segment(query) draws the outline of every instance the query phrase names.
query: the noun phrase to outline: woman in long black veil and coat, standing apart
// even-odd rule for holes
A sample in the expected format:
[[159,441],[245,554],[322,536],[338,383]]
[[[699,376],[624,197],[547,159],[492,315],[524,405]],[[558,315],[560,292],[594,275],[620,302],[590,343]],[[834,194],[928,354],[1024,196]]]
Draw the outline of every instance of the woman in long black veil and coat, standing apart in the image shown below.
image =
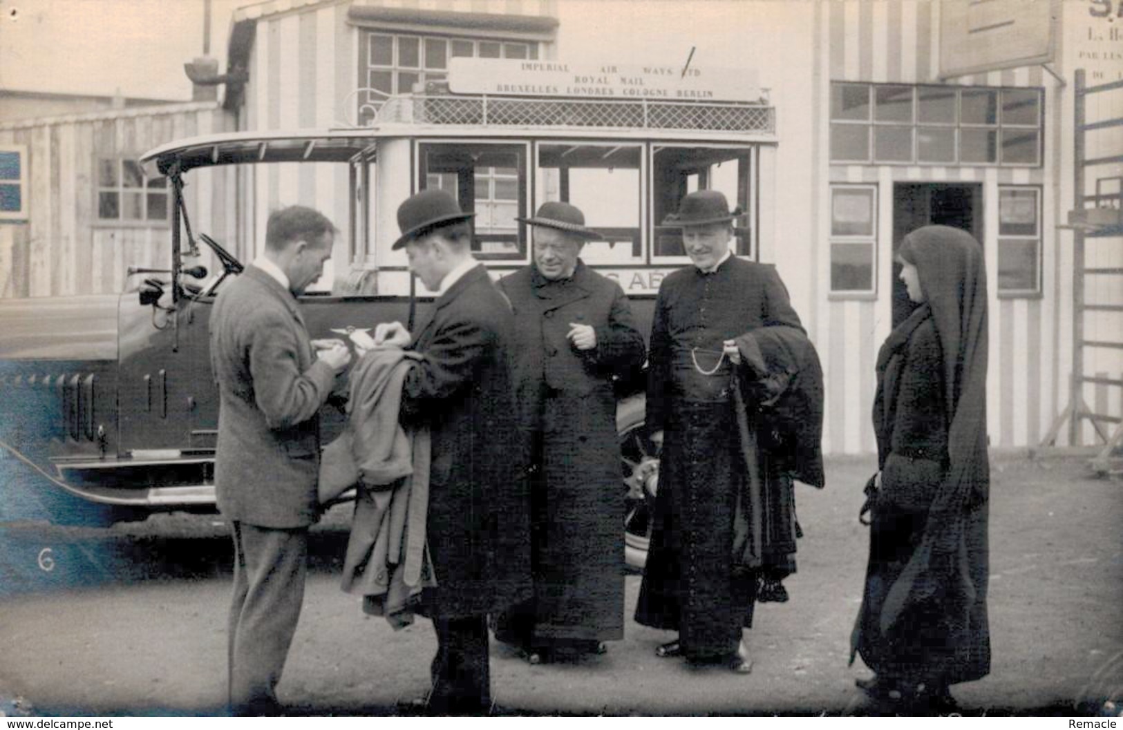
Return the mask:
[[858,686],[912,709],[990,670],[987,626],[987,294],[983,249],[926,226],[905,237],[901,279],[917,303],[877,357],[869,563],[850,660]]

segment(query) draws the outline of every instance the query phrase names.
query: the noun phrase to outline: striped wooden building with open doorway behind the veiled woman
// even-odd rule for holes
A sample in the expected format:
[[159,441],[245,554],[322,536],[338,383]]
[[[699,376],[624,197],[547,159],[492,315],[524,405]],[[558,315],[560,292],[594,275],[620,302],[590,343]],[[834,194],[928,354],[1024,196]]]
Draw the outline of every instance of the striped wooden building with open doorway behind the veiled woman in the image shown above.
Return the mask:
[[[895,289],[901,296],[891,277],[897,271],[893,252],[910,228],[931,220],[968,228],[984,245],[990,293],[992,445],[1038,445],[1071,395],[1072,234],[1060,226],[1072,208],[1072,76],[1083,63],[1081,40],[1094,33],[1096,18],[1089,17],[1088,3],[1029,3],[1025,12],[1035,6],[1037,12],[1058,13],[1049,67],[1023,65],[941,79],[941,67],[956,61],[941,61],[940,33],[948,20],[942,15],[962,15],[976,3],[955,4],[815,4],[815,65],[822,81],[811,104],[819,120],[813,168],[821,198],[812,207],[815,246],[810,259],[818,263],[812,279],[815,335],[829,363],[825,430],[836,451],[874,447],[870,373],[877,346],[894,321]],[[1101,21],[1098,27],[1108,26]],[[985,33],[978,37],[976,43],[987,43]],[[946,55],[948,45],[942,48]],[[1117,67],[1123,71],[1123,63]],[[869,106],[856,108],[852,97],[860,99],[866,85],[871,86]],[[898,94],[909,98],[910,90],[911,113],[896,103]],[[958,104],[944,103],[949,100]],[[1123,93],[1117,93],[1094,108],[1088,121],[1123,116],[1121,102]],[[843,149],[853,144],[848,134],[867,124],[873,125],[868,158],[847,161]],[[906,126],[913,128],[912,140],[903,134]],[[1114,140],[1105,136],[1097,145],[1096,154],[1119,155],[1123,135]],[[1121,172],[1123,165],[1115,165],[1107,175],[1117,179]],[[852,235],[840,203],[862,191],[873,198],[876,221],[868,239],[875,252],[874,282],[873,291],[850,293],[838,286],[846,277],[840,266],[844,256],[839,254],[859,250],[855,245],[861,236]],[[1089,266],[1120,266],[1123,241],[1103,239],[1089,256]],[[1117,280],[1093,280],[1087,301],[1123,303],[1123,291]],[[1119,313],[1080,316],[1087,339],[1123,340]],[[1119,350],[1098,350],[1089,355],[1085,371],[1117,378],[1123,358]],[[1088,387],[1085,398],[1101,412],[1120,416],[1120,389]],[[1087,431],[1090,438],[1090,426]]]

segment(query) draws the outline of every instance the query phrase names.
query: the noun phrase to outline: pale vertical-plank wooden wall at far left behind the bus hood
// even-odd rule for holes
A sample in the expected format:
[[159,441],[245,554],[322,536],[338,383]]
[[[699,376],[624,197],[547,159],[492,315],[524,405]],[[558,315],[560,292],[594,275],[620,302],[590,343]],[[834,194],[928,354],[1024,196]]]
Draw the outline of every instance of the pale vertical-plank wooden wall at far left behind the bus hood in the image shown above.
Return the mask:
[[[0,125],[0,145],[27,149],[27,220],[0,221],[0,296],[125,291],[128,266],[167,267],[170,226],[98,220],[99,157],[139,158],[174,139],[232,129],[214,102],[161,104]],[[236,195],[226,170],[191,173],[195,230],[234,240]],[[201,259],[210,264],[209,257]],[[136,277],[134,277],[136,279]]]

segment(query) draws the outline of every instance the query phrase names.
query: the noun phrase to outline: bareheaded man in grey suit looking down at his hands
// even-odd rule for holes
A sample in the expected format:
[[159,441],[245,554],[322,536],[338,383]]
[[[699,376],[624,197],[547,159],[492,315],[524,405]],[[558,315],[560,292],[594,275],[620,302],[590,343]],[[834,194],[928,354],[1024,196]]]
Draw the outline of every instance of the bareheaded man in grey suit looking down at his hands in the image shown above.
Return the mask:
[[211,313],[214,484],[234,531],[228,668],[236,714],[280,710],[275,688],[304,597],[308,528],[319,515],[318,412],[350,353],[338,340],[309,339],[296,296],[322,273],[335,230],[310,208],[275,211],[265,252],[226,284]]

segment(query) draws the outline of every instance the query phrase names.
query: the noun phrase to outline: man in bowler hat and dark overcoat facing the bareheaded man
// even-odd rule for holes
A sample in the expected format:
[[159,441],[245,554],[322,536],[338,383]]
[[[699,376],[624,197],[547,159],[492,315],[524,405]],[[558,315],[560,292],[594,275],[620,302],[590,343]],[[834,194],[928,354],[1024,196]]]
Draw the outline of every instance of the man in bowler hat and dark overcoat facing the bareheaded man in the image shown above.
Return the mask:
[[[530,595],[529,501],[510,357],[514,320],[487,270],[472,257],[474,213],[427,190],[398,209],[410,270],[437,295],[414,338],[380,323],[375,346],[423,357],[405,376],[399,420],[429,428],[432,453],[426,535],[435,587],[422,612],[437,632],[423,708],[474,714],[491,706],[487,614]],[[417,703],[420,704],[420,703]]]

